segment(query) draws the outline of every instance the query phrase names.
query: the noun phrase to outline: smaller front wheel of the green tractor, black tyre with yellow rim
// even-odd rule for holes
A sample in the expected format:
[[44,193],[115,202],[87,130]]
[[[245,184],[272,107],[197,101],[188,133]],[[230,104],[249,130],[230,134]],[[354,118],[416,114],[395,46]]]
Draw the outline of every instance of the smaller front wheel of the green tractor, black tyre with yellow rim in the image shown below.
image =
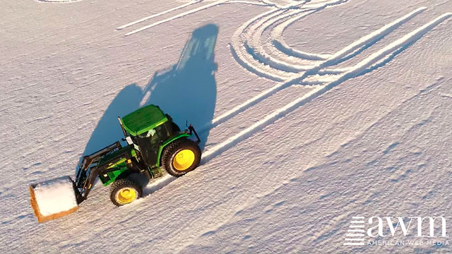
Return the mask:
[[[130,198],[130,201],[124,198],[123,193],[125,193],[126,190],[135,192],[135,195],[132,194],[133,198]],[[133,202],[133,200],[141,198],[141,195],[143,195],[143,188],[141,188],[140,184],[133,179],[117,179],[112,183],[112,186],[110,186],[110,200],[112,200],[113,204],[116,206],[129,204],[130,202]]]

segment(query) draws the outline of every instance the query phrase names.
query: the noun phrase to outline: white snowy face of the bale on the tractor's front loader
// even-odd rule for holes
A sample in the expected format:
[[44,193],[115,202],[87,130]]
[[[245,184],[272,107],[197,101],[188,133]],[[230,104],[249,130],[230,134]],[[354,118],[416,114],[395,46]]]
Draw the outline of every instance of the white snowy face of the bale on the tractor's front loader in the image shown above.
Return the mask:
[[69,211],[77,207],[73,184],[67,176],[37,183],[33,190],[42,216]]

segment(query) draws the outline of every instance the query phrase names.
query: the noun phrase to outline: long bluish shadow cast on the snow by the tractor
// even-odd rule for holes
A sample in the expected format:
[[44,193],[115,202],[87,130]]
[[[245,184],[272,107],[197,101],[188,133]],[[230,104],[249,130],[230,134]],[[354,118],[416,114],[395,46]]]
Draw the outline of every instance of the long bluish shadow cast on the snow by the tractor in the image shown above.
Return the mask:
[[[134,83],[124,87],[97,123],[85,146],[83,156],[124,138],[118,116],[125,116],[148,104],[159,106],[172,116],[173,121],[181,129],[190,123],[195,129],[210,123],[215,111],[217,92],[215,81],[217,64],[214,61],[217,35],[217,25],[208,24],[197,28],[191,33],[179,61],[174,66],[156,71],[144,89]],[[197,131],[201,139],[199,146],[203,150],[209,130]],[[124,142],[121,143],[125,145]],[[152,186],[148,188],[153,192],[163,187],[160,185],[161,183],[158,188]],[[146,194],[149,194],[148,191]]]

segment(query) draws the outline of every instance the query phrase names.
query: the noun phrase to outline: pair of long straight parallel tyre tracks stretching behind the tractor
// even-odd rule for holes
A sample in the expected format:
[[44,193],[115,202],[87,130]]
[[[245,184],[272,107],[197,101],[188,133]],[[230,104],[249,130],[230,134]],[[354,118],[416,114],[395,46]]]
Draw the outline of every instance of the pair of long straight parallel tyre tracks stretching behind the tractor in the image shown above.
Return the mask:
[[[336,52],[327,60],[322,61],[321,63],[316,64],[311,68],[308,68],[303,73],[299,73],[298,75],[292,75],[291,78],[285,80],[284,83],[275,85],[269,90],[262,92],[260,95],[257,95],[256,97],[251,98],[248,101],[244,102],[243,104],[240,104],[234,109],[228,111],[222,116],[218,116],[217,118],[213,119],[212,125],[216,126],[219,124],[219,122],[225,121],[224,119],[230,119],[232,116],[238,114],[240,111],[243,111],[244,109],[250,107],[250,105],[256,104],[257,102],[260,102],[261,100],[270,97],[275,92],[283,90],[285,87],[289,87],[290,85],[295,85],[298,83],[303,83],[304,80],[309,80],[309,78],[320,79],[319,77],[321,75],[319,75],[319,73],[321,73],[320,71],[322,68],[334,66],[335,64],[340,63],[340,61],[346,56],[354,54],[357,50],[359,50],[360,47],[364,47],[369,43],[375,43],[376,40],[379,40],[387,33],[392,32],[398,26],[410,20],[410,18],[416,16],[425,9],[426,9],[425,7],[417,8],[415,11],[408,13],[402,18],[398,18],[392,23],[383,26],[383,28],[380,28],[379,30],[371,32],[369,35],[360,38],[359,40],[345,47],[344,49]],[[302,95],[301,97],[286,104],[284,107],[281,107],[280,109],[276,109],[272,113],[268,114],[261,121],[254,123],[252,126],[249,126],[240,133],[237,133],[236,135],[228,138],[224,142],[215,145],[215,147],[211,147],[209,150],[204,152],[203,162],[207,162],[211,157],[218,155],[223,150],[227,150],[232,145],[237,144],[241,140],[249,137],[249,135],[252,135],[256,131],[261,130],[268,124],[273,123],[273,121],[275,121],[276,119],[279,119],[280,117],[284,116],[293,109],[301,106],[302,104],[306,104],[312,99],[319,97],[328,90],[331,90],[331,88],[335,87],[336,85],[343,83],[345,80],[354,78],[358,75],[362,75],[369,71],[373,71],[374,69],[380,66],[383,66],[388,61],[391,61],[391,59],[393,59],[394,56],[402,52],[410,44],[416,42],[416,40],[419,40],[423,35],[425,35],[427,32],[436,27],[436,25],[439,25],[440,23],[450,18],[451,16],[452,13],[444,13],[443,15],[435,18],[434,20],[431,20],[429,23],[422,25],[420,28],[417,28],[416,30],[409,32],[405,36],[400,37],[398,40],[391,42],[386,47],[383,47],[383,49],[380,49],[379,51],[375,52],[374,54],[371,54],[362,61],[359,61],[359,63],[356,63],[354,66],[345,69],[343,73],[335,74],[329,80],[326,79],[326,81],[324,82],[326,83],[326,85],[316,85],[314,89],[308,92],[307,94]]]

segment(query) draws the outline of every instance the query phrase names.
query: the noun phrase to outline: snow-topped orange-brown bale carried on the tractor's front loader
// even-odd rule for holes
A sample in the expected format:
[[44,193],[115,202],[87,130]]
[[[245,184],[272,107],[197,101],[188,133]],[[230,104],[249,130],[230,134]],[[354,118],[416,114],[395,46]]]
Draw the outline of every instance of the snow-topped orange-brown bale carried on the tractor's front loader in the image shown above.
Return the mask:
[[37,222],[47,222],[78,209],[73,182],[69,176],[30,185],[30,203]]

